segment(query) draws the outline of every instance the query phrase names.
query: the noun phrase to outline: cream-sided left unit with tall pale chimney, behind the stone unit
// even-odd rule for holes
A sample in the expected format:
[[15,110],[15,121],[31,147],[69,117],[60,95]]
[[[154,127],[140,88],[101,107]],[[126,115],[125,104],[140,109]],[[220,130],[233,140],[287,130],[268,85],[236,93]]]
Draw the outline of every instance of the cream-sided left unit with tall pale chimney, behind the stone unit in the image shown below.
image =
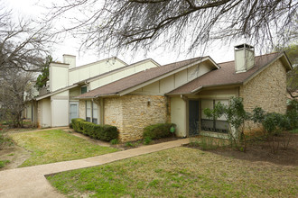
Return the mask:
[[[63,63],[51,63],[48,87],[35,98],[34,121],[42,128],[67,126],[72,118],[79,117],[76,96],[151,67],[160,65],[152,59],[127,65],[119,58],[107,58],[76,67],[76,57],[63,55]],[[93,105],[93,122],[98,123],[96,108]]]

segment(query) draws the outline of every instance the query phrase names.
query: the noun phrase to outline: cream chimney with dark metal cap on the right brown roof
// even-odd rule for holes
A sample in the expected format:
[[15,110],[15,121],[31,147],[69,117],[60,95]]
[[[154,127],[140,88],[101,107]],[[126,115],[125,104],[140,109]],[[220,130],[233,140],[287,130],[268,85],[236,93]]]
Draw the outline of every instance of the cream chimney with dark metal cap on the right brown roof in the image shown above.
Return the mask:
[[234,47],[235,71],[246,72],[255,65],[255,48],[246,43]]

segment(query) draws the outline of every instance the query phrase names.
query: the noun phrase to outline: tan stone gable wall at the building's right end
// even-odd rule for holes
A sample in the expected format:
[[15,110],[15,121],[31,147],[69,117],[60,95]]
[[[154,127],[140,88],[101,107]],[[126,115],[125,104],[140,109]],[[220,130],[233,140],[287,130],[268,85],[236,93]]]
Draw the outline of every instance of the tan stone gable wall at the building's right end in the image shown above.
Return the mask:
[[[239,96],[247,112],[258,106],[265,112],[286,111],[286,69],[280,60],[265,68],[259,75],[251,79],[247,85],[240,86]],[[256,128],[256,124],[249,122]]]

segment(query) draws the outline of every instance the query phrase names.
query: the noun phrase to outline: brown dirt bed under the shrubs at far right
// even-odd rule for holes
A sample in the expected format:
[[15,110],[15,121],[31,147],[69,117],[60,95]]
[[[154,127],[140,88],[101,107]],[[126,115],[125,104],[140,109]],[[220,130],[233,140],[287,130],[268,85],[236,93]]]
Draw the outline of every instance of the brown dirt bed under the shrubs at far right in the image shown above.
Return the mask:
[[[288,145],[287,145],[288,143]],[[287,145],[285,148],[284,146]],[[187,145],[186,147],[200,148]],[[283,136],[274,139],[256,140],[247,145],[246,152],[240,152],[235,148],[219,147],[209,149],[210,152],[251,162],[263,161],[283,166],[298,166],[298,134],[284,132]]]

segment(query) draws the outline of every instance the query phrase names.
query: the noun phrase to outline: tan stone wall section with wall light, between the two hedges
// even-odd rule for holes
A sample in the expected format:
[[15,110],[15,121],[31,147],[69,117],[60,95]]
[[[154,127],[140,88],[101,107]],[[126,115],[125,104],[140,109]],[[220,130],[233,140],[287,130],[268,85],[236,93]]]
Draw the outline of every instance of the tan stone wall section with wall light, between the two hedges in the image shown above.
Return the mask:
[[166,96],[125,95],[105,98],[104,105],[105,123],[119,129],[121,141],[142,139],[144,127],[170,121],[170,101]]

